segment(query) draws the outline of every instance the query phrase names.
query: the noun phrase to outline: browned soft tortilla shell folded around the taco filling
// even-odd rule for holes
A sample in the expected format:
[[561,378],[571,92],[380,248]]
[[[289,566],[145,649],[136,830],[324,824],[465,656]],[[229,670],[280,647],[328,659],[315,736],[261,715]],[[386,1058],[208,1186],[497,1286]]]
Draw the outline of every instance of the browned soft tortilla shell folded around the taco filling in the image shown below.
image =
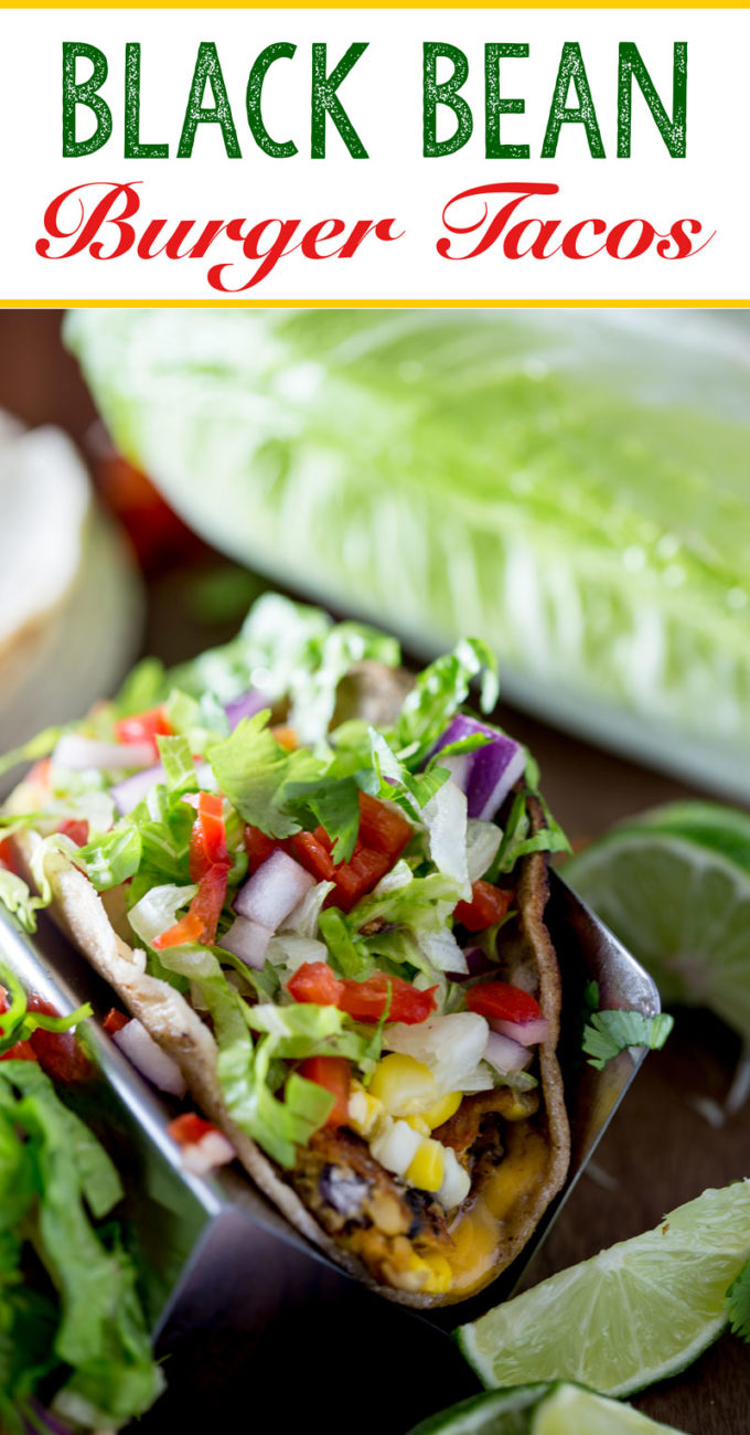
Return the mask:
[[[403,696],[403,690],[399,696]],[[383,718],[381,720],[387,720]],[[10,811],[34,811],[43,805],[44,794],[32,782],[22,784],[10,798]],[[538,804],[531,805],[532,827],[543,827],[543,815]],[[42,838],[36,832],[23,832],[16,838],[19,854],[29,861]],[[304,1236],[320,1246],[331,1260],[344,1266],[353,1276],[380,1294],[400,1304],[429,1309],[465,1300],[480,1286],[505,1270],[529,1240],[543,1211],[561,1190],[569,1162],[569,1128],[565,1111],[562,1076],[555,1055],[559,1036],[561,979],[549,933],[543,923],[548,895],[546,854],[535,852],[521,860],[521,880],[516,885],[518,918],[508,928],[508,943],[503,946],[503,960],[508,963],[511,980],[518,979],[539,1002],[542,1015],[549,1020],[549,1038],[539,1046],[541,1092],[548,1161],[542,1180],[533,1194],[522,1192],[503,1220],[505,1231],[496,1264],[480,1284],[430,1296],[396,1290],[374,1281],[364,1266],[343,1250],[315,1221],[297,1192],[283,1180],[278,1167],[264,1155],[261,1148],[229,1116],[217,1076],[217,1042],[189,1003],[166,982],[146,973],[146,957],[139,949],[125,941],[115,924],[120,926],[112,910],[95,891],[87,877],[62,852],[52,851],[44,860],[44,871],[54,894],[52,913],[73,943],[85,953],[96,971],[115,989],[132,1016],[136,1016],[151,1036],[172,1056],[181,1068],[191,1095],[198,1108],[221,1126],[232,1141],[237,1155],[261,1191],[284,1213]],[[106,900],[106,898],[105,898]]]

